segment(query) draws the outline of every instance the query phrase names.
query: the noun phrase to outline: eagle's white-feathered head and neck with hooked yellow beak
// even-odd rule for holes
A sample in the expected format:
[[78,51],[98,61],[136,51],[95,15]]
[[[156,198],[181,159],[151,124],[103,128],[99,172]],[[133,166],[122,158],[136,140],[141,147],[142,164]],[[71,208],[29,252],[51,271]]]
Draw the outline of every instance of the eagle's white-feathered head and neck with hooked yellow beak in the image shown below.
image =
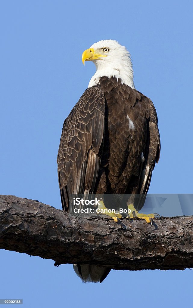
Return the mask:
[[83,64],[84,61],[93,61],[96,65],[96,73],[92,76],[88,87],[96,86],[100,77],[107,76],[119,78],[122,83],[135,88],[130,54],[125,46],[121,46],[117,41],[107,39],[94,43],[83,52]]

